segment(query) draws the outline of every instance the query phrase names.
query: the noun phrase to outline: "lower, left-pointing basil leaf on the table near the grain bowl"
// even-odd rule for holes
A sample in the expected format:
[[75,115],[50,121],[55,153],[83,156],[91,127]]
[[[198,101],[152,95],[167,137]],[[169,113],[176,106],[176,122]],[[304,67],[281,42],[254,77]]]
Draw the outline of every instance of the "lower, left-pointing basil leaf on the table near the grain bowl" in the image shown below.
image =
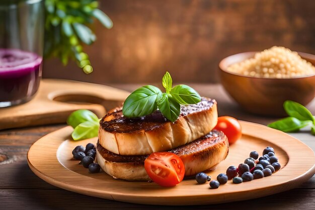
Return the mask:
[[283,132],[294,132],[311,123],[312,121],[310,120],[301,121],[295,117],[286,117],[278,121],[272,122],[268,124],[267,126],[281,130]]

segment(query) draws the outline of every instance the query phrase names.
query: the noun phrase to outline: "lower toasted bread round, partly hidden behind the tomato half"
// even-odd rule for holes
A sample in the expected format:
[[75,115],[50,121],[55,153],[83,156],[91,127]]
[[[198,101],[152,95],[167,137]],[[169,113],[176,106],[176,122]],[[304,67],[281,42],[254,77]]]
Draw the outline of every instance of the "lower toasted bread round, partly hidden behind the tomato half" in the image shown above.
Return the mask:
[[[228,154],[228,141],[223,132],[213,130],[187,145],[169,150],[178,155],[185,165],[185,177],[210,169]],[[103,171],[114,178],[125,180],[150,180],[144,169],[148,155],[123,156],[112,153],[97,144],[97,160]]]

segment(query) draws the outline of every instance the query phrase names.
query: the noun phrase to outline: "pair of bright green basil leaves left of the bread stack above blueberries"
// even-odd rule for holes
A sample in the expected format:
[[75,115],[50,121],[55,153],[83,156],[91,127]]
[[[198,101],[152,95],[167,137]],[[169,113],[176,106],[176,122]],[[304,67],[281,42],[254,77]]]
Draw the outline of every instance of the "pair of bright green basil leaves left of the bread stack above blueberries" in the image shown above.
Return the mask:
[[67,124],[74,128],[71,136],[77,141],[98,136],[100,119],[93,112],[80,109],[70,114]]

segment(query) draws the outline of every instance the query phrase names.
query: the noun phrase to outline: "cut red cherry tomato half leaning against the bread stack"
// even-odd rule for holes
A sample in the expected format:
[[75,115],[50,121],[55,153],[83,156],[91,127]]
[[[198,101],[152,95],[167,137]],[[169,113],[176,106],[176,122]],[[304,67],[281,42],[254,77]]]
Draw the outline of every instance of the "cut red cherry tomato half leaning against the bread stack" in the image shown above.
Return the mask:
[[144,168],[148,176],[157,184],[173,187],[180,183],[185,175],[183,161],[170,152],[152,153],[145,159]]

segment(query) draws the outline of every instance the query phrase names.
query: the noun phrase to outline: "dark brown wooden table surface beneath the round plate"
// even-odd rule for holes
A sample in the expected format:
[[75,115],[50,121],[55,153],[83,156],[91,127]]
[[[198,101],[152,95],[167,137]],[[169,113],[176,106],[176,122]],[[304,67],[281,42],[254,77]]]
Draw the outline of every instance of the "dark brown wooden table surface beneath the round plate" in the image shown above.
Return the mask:
[[[261,124],[276,120],[244,112],[220,85],[190,85],[200,95],[217,100],[219,115],[230,115]],[[114,86],[132,91],[139,85]],[[315,114],[315,100],[307,108]],[[315,176],[295,189],[267,197],[199,206],[131,204],[66,191],[34,175],[26,160],[30,146],[37,139],[63,126],[65,124],[0,130],[0,209],[315,209]],[[291,134],[315,151],[315,136],[307,131]]]

